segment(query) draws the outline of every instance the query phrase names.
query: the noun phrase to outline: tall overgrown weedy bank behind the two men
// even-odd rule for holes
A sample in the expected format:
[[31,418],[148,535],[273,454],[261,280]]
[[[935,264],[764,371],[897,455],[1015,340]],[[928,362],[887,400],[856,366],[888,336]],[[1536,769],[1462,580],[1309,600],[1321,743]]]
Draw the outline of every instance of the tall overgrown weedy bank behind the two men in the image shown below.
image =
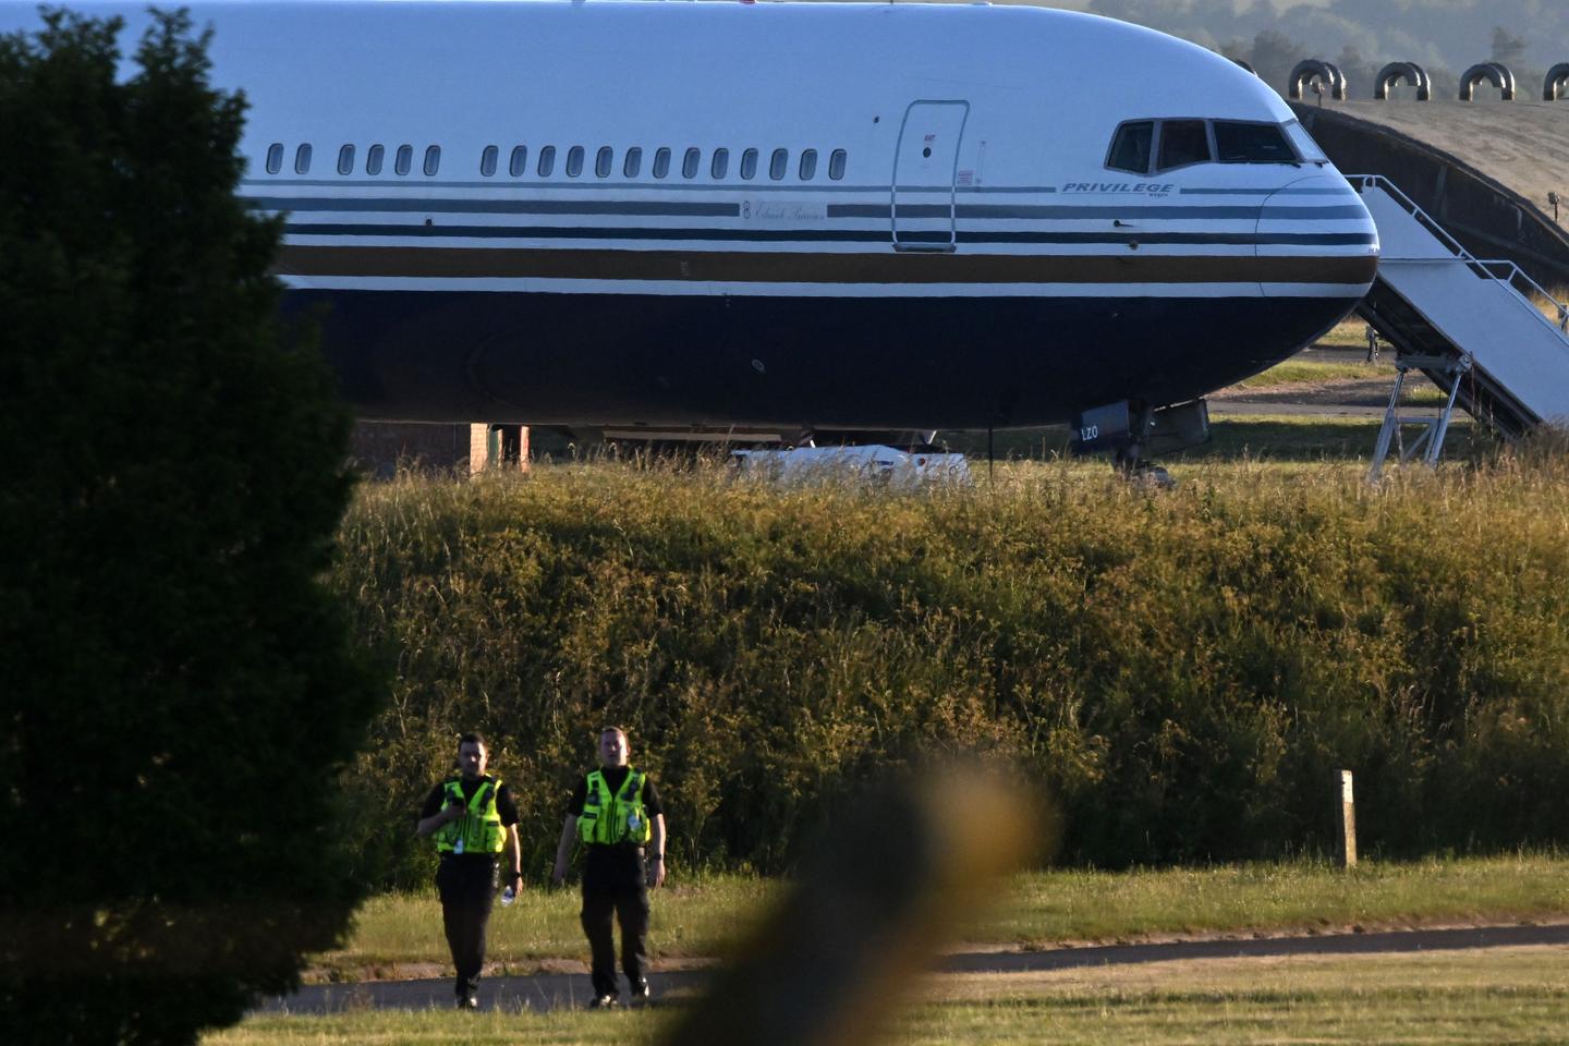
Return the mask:
[[[1561,461],[1561,459],[1558,459]],[[1061,859],[1569,841],[1569,470],[1368,489],[1211,466],[1149,494],[999,469],[901,496],[720,467],[554,467],[367,489],[336,583],[397,651],[358,801],[366,872],[414,883],[410,812],[452,734],[497,739],[543,873],[602,721],[632,728],[679,861],[772,870],[929,751],[1018,761]]]

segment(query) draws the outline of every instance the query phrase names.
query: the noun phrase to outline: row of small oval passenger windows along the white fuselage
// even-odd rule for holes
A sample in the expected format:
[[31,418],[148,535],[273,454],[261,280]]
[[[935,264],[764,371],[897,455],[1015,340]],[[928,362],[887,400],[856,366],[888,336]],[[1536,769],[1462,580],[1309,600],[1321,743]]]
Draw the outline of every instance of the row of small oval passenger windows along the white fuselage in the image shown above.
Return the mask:
[[[672,151],[668,147],[659,147],[654,151],[653,163],[650,165],[650,174],[656,179],[670,177],[670,162]],[[573,146],[566,151],[566,162],[563,169],[566,177],[582,177],[585,165],[585,151],[582,146]],[[739,174],[742,180],[752,180],[758,176],[758,151],[742,149]],[[342,146],[337,151],[337,173],[353,174],[355,173],[355,146]],[[480,174],[485,177],[494,177],[496,169],[501,163],[501,149],[497,146],[485,146],[480,152]],[[835,182],[844,177],[844,168],[849,163],[849,154],[844,149],[835,149],[828,154],[828,177]],[[386,165],[386,146],[375,144],[366,149],[366,174],[377,176],[381,174]],[[392,173],[399,176],[406,176],[414,166],[414,146],[399,146],[392,154]],[[643,171],[643,151],[637,146],[626,149],[621,154],[621,177],[637,177]],[[278,174],[284,168],[284,144],[275,141],[267,147],[267,173]],[[601,146],[593,155],[593,173],[595,177],[610,177],[615,173],[615,149],[610,146]],[[422,169],[427,177],[433,177],[436,171],[441,169],[441,146],[428,146],[425,149]],[[681,177],[695,179],[703,169],[703,151],[697,146],[686,149],[681,154]],[[791,155],[789,149],[775,149],[769,154],[767,176],[769,180],[783,182],[791,171]],[[293,173],[309,174],[311,173],[311,144],[304,143],[295,147],[293,154]],[[507,155],[507,174],[511,177],[522,177],[529,173],[529,146],[513,146],[511,152]],[[541,146],[533,157],[533,173],[538,177],[551,177],[555,174],[555,146]],[[730,176],[730,149],[714,149],[708,155],[708,177],[719,182]],[[795,177],[802,182],[810,182],[817,177],[817,151],[802,149],[800,155],[795,158]]]

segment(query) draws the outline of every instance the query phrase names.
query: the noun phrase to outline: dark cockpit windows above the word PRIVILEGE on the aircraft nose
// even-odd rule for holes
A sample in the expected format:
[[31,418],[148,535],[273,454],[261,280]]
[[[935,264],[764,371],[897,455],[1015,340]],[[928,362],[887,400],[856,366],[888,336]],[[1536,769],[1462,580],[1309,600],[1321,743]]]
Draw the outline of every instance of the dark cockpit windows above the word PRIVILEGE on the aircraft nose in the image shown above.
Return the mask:
[[[1117,127],[1106,166],[1159,174],[1194,163],[1302,163],[1288,129],[1222,119],[1134,119]],[[1312,158],[1312,157],[1305,157]]]

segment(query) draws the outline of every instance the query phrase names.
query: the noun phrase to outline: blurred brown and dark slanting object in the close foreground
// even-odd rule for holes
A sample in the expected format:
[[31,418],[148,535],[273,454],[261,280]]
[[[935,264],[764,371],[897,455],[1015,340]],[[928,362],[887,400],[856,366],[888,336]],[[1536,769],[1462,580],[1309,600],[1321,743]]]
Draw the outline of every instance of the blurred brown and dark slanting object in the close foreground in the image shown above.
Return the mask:
[[940,767],[846,803],[668,1046],[866,1046],[938,949],[1054,842],[1058,815],[1020,773]]

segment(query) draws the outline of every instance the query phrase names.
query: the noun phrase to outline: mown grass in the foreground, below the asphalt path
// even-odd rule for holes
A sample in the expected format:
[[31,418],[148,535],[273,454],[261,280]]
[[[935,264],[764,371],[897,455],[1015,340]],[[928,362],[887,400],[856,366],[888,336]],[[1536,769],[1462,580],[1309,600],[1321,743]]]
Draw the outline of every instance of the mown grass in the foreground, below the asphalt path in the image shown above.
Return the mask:
[[[888,1007],[891,1043],[1563,1043],[1569,953],[1552,947],[1191,960],[932,977]],[[637,1046],[668,1011],[257,1016],[206,1046]]]

